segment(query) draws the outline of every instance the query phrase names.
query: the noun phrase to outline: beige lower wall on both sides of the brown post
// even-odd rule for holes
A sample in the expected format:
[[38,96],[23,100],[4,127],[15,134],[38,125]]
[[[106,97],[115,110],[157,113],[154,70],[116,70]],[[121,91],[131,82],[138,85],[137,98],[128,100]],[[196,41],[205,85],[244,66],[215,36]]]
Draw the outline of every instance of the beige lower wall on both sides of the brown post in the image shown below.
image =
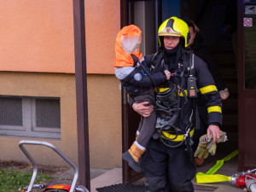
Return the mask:
[[[78,164],[75,77],[60,73],[0,73],[0,95],[61,98],[61,139],[0,136],[0,160],[26,160],[20,140],[53,143]],[[113,75],[88,75],[90,167],[121,166],[121,104],[119,81]],[[39,164],[62,165],[51,149],[28,146]],[[10,153],[11,152],[11,153]],[[108,158],[106,158],[108,157]]]

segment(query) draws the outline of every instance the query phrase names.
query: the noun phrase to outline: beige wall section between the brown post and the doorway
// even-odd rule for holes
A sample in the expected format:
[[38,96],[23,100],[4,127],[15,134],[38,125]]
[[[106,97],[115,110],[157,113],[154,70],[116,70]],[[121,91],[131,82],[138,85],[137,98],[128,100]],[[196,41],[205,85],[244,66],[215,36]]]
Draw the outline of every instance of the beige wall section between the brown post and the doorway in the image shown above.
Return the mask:
[[122,166],[121,91],[113,75],[88,75],[90,166]]

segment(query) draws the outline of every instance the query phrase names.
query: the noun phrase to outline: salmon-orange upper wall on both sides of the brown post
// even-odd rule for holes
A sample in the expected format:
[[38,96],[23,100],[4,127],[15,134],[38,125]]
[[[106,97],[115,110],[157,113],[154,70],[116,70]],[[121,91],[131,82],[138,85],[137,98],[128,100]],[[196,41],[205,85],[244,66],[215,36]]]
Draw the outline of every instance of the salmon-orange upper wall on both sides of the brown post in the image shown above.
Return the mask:
[[[87,73],[114,73],[119,2],[84,0]],[[0,71],[75,72],[73,1],[1,1],[0,13]]]

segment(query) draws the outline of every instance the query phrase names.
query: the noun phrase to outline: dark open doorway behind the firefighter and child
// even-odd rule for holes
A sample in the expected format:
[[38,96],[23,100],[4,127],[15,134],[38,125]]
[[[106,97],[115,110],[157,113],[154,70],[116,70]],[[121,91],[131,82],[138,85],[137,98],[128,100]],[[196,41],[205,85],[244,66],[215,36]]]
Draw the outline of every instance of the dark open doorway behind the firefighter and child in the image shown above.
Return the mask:
[[[205,44],[212,51],[218,71],[222,76],[225,86],[230,92],[230,97],[223,102],[223,126],[229,141],[238,148],[238,91],[236,58],[232,46],[233,33],[225,28],[226,12],[229,1],[225,0],[126,0],[121,1],[122,26],[134,24],[143,32],[142,53],[153,54],[158,50],[157,32],[160,24],[171,16],[183,20],[194,20],[201,29]],[[234,13],[233,13],[234,14]],[[234,15],[236,18],[236,14]],[[139,115],[131,111],[123,90],[123,152],[127,150],[135,139]],[[131,183],[137,174],[123,162],[123,182]]]

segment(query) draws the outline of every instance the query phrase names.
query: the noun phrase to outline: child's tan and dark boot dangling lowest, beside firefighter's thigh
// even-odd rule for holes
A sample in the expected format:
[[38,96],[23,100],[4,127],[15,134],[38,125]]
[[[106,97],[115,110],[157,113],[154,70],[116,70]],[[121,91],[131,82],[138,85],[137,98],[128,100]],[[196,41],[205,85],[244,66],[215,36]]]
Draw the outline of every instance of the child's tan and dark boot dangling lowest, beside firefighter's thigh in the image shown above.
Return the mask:
[[140,157],[145,152],[145,150],[146,148],[142,150],[138,148],[135,143],[133,143],[131,145],[131,148],[128,149],[128,151],[125,151],[124,154],[122,154],[122,157],[128,162],[129,166],[131,166],[132,169],[134,169],[136,172],[142,172]]

